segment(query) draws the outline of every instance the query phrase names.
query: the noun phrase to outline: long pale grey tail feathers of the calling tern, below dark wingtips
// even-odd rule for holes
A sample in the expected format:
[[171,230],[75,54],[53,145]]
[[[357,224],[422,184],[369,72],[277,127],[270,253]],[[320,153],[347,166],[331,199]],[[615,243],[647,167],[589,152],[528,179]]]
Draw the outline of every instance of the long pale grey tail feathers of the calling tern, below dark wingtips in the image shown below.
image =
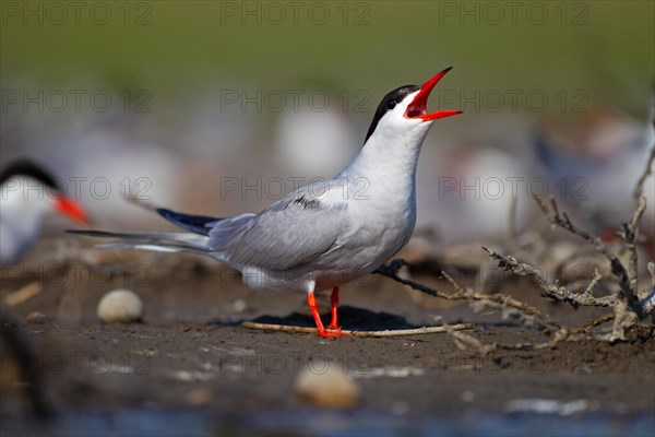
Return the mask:
[[193,252],[211,256],[206,247],[209,237],[191,233],[163,232],[106,232],[106,231],[67,231],[72,234],[99,238],[116,238],[117,241],[99,247],[129,247],[133,249],[158,250],[163,252]]

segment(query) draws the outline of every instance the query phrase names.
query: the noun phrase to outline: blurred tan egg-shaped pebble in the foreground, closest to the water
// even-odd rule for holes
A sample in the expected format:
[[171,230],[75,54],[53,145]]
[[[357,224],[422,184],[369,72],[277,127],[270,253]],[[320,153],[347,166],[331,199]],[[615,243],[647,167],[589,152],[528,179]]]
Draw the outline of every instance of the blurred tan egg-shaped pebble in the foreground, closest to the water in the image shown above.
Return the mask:
[[329,409],[346,409],[359,401],[357,383],[335,363],[324,373],[306,368],[296,379],[296,394],[303,401]]

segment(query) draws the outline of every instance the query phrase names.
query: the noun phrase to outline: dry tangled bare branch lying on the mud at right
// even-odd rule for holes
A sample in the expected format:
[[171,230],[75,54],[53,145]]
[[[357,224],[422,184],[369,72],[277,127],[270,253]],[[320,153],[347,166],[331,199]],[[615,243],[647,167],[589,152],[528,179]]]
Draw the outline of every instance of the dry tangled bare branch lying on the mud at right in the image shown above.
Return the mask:
[[[553,300],[563,302],[577,309],[581,306],[588,307],[612,307],[614,314],[604,315],[596,319],[588,320],[584,324],[574,328],[568,328],[562,326],[561,322],[555,318],[543,314],[537,308],[514,299],[510,296],[502,294],[487,295],[476,293],[471,288],[464,288],[460,286],[450,275],[442,272],[442,277],[449,281],[453,287],[453,293],[444,293],[427,285],[417,283],[415,281],[401,277],[397,272],[402,265],[407,263],[402,259],[396,259],[391,262],[390,265],[382,265],[374,273],[388,276],[396,282],[404,285],[408,285],[414,290],[422,292],[427,295],[443,298],[446,300],[467,300],[474,307],[474,309],[492,308],[500,309],[503,311],[503,316],[510,314],[510,309],[513,310],[515,317],[519,317],[525,324],[532,322],[534,319],[538,319],[546,324],[545,331],[547,331],[551,339],[540,344],[491,344],[485,345],[479,340],[468,334],[461,332],[454,333],[448,329],[448,324],[443,321],[446,333],[453,336],[455,344],[458,347],[474,347],[478,353],[486,355],[496,349],[544,349],[551,347],[557,343],[571,340],[576,335],[588,333],[592,329],[614,320],[614,326],[609,340],[624,340],[626,330],[633,327],[639,320],[644,319],[648,315],[653,315],[655,318],[655,262],[648,264],[648,272],[652,276],[653,288],[643,298],[640,299],[640,293],[638,290],[639,284],[639,258],[636,241],[639,237],[639,222],[646,210],[646,200],[641,197],[643,192],[643,184],[646,177],[651,174],[651,165],[655,160],[655,147],[651,152],[650,160],[646,166],[646,170],[640,177],[634,193],[639,198],[639,202],[632,218],[630,222],[621,224],[621,231],[619,236],[623,240],[626,248],[630,255],[628,267],[626,267],[619,257],[614,253],[609,247],[598,237],[597,235],[588,232],[571,221],[570,216],[564,211],[560,211],[555,198],[551,198],[547,203],[543,199],[535,198],[537,205],[544,213],[546,220],[555,226],[561,227],[562,229],[582,238],[587,241],[596,251],[602,253],[610,264],[610,271],[614,276],[618,279],[618,291],[608,296],[596,297],[594,290],[598,282],[603,279],[603,275],[597,269],[594,269],[594,275],[591,277],[590,283],[582,293],[574,293],[567,286],[559,283],[559,281],[550,282],[547,277],[544,277],[541,272],[534,265],[525,262],[519,262],[511,256],[504,256],[498,253],[491,249],[483,247],[489,256],[498,262],[498,265],[505,270],[514,273],[519,276],[527,276],[532,279],[537,286],[541,288],[541,295]],[[512,206],[515,209],[515,205]],[[513,225],[510,225],[510,235],[513,234]]]

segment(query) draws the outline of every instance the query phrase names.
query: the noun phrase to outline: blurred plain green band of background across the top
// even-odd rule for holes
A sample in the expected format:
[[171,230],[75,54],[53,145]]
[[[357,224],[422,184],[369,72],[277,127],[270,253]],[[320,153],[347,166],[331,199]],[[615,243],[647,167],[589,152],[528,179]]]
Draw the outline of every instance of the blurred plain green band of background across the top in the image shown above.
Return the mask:
[[[110,1],[82,2],[79,20],[71,7],[61,20],[48,2],[2,3],[3,80],[56,87],[92,76],[159,98],[221,81],[380,95],[454,66],[450,86],[584,88],[634,111],[655,69],[647,0]],[[25,16],[39,7],[43,24],[39,13]]]

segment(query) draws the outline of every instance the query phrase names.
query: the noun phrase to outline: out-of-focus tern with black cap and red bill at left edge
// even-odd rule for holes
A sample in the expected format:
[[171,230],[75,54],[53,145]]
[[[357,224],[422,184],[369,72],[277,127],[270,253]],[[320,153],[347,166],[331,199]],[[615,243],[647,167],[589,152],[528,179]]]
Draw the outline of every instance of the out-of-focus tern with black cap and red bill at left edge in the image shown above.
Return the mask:
[[57,180],[32,161],[15,161],[3,168],[0,191],[0,265],[19,261],[34,246],[48,212],[88,224],[82,205],[63,196]]

